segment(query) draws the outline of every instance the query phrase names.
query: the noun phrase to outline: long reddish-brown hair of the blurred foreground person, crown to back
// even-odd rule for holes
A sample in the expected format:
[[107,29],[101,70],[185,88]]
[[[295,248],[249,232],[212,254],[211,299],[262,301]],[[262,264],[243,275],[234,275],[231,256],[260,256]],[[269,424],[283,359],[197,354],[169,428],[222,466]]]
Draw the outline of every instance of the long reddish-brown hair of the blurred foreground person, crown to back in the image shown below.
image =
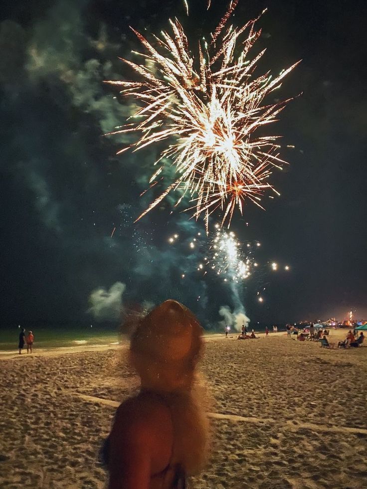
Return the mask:
[[180,464],[187,475],[200,472],[207,461],[206,396],[196,372],[202,350],[198,320],[176,301],[166,301],[141,319],[130,343],[142,387],[160,394],[170,409],[172,463]]

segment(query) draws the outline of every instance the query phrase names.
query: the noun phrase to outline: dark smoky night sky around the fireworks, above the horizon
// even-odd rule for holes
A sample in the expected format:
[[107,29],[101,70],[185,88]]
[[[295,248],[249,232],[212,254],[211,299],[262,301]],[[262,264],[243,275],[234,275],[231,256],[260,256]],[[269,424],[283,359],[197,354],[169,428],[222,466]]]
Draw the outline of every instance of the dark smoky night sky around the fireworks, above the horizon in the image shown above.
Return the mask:
[[[189,3],[187,19],[181,0],[1,2],[1,325],[115,319],[121,301],[178,299],[206,327],[221,306],[233,310],[231,287],[204,280],[184,244],[168,244],[202,223],[182,209],[171,215],[168,200],[133,224],[153,199],[139,195],[158,149],[117,157],[121,140],[103,136],[131,113],[131,101],[103,84],[131,76],[118,60],[140,49],[129,25],[159,33],[176,15],[195,39],[225,6]],[[351,309],[366,318],[367,4],[242,0],[234,22],[266,6],[259,69],[303,60],[280,95],[303,94],[272,128],[295,149],[274,174],[281,197],[266,199],[266,212],[249,204],[232,230],[262,243],[259,262],[291,271],[259,273],[239,296],[254,323],[343,319]]]

